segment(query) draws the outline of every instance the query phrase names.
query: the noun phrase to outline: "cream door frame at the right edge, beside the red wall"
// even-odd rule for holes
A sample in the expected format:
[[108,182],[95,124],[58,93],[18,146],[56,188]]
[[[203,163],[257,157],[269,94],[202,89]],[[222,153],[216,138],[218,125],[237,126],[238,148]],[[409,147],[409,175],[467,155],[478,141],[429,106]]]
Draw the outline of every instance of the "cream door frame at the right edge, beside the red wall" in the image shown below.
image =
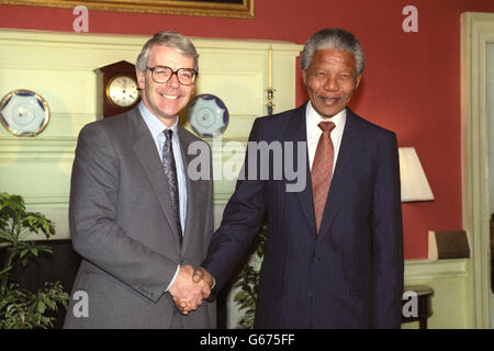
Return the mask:
[[486,45],[494,43],[494,13],[461,15],[461,168],[468,268],[468,326],[490,327],[489,144]]

